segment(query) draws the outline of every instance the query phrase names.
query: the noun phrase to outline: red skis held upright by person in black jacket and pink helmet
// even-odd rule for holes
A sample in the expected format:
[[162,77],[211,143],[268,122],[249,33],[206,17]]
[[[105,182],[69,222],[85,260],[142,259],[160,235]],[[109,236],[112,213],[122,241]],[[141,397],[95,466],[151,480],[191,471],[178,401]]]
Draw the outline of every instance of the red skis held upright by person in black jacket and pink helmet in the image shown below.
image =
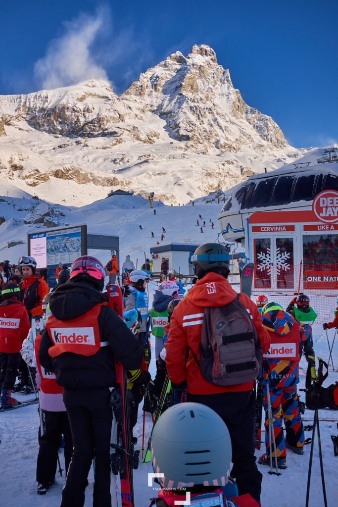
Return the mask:
[[[119,285],[107,286],[110,307],[123,319],[123,297]],[[112,390],[110,405],[117,422],[117,443],[110,444],[111,469],[120,474],[122,506],[134,507],[133,468],[138,467],[139,451],[134,450],[130,427],[130,400],[126,371],[115,358],[116,386]]]

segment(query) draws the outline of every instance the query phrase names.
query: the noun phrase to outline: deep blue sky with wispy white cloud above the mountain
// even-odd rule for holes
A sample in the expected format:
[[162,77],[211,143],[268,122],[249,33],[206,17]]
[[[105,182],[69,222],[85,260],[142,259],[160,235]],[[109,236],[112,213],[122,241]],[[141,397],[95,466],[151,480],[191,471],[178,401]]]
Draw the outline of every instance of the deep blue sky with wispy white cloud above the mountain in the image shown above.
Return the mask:
[[2,2],[0,94],[107,77],[124,91],[208,44],[243,99],[296,147],[338,142],[336,0]]

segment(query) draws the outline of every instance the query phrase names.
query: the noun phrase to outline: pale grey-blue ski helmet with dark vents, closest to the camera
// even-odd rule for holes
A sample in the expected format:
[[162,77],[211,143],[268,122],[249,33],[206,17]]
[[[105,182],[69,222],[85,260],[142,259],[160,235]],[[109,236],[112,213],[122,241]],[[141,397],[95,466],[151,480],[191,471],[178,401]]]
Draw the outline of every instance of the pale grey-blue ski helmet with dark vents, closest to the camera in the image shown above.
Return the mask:
[[200,403],[167,409],[151,438],[152,464],[163,488],[225,486],[230,472],[229,430],[216,412]]

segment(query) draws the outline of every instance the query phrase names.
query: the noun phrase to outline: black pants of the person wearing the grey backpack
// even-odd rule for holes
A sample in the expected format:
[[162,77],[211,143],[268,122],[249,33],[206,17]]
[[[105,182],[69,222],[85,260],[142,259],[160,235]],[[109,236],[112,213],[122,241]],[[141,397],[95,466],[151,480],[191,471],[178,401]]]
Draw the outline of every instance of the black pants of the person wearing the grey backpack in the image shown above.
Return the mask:
[[[202,403],[214,410],[227,424],[233,450],[231,477],[240,495],[250,495],[260,504],[262,475],[255,458],[255,415],[253,391],[220,394],[190,394],[188,402]],[[212,431],[212,428],[210,428]]]

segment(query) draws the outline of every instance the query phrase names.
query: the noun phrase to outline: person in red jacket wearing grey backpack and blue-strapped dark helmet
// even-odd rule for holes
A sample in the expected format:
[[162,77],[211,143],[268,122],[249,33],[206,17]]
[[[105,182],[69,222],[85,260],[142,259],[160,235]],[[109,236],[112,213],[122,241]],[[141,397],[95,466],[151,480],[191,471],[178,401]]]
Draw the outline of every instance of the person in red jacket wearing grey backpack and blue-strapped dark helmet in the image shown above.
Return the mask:
[[[199,246],[191,258],[198,281],[190,289],[187,297],[174,309],[168,341],[166,342],[166,366],[169,378],[176,389],[187,389],[187,401],[203,403],[212,408],[226,422],[233,445],[233,468],[231,475],[236,478],[239,493],[250,493],[259,502],[262,475],[258,472],[254,456],[254,378],[258,374],[261,353],[269,349],[270,338],[262,326],[261,316],[256,305],[245,294],[238,294],[230,286],[227,277],[230,273],[230,255],[226,247],[218,243],[205,243]],[[251,380],[236,381],[232,385],[215,385],[207,381],[200,369],[201,338],[206,320],[205,310],[224,307],[235,302],[245,312],[246,322],[251,322],[252,336],[255,336],[254,354],[249,372]],[[243,312],[244,310],[244,312]],[[238,351],[243,341],[236,330],[232,330],[230,341],[238,341]],[[229,337],[222,337],[227,339]],[[234,340],[232,339],[234,338]],[[235,340],[235,338],[237,338]],[[253,338],[252,338],[253,340]],[[248,340],[245,340],[245,344]],[[243,363],[243,361],[242,361]],[[217,365],[217,362],[215,363]],[[231,365],[228,365],[230,372]],[[234,365],[236,367],[237,365]],[[245,367],[243,363],[239,367]],[[236,368],[235,368],[236,369]],[[218,368],[216,366],[218,373]],[[231,372],[230,372],[231,373]],[[238,371],[236,372],[236,376]],[[243,378],[248,378],[247,373]]]

